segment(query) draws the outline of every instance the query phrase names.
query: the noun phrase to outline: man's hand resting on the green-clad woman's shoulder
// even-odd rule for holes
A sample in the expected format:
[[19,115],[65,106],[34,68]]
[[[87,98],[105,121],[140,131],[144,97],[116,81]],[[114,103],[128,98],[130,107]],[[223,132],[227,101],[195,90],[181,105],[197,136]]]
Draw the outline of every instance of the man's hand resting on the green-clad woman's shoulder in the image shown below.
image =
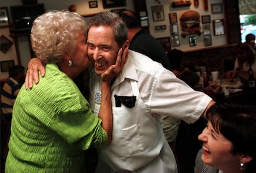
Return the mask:
[[45,66],[43,65],[43,62],[39,58],[30,59],[29,63],[27,64],[27,73],[25,78],[26,89],[32,89],[33,81],[35,81],[35,84],[39,83],[38,71],[40,71],[41,77],[45,76]]

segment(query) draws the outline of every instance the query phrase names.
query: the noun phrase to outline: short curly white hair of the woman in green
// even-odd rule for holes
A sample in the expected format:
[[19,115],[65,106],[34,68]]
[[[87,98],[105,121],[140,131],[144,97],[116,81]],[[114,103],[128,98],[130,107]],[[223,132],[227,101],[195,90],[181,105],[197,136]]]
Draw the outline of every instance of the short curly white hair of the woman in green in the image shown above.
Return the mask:
[[61,62],[63,55],[73,55],[77,35],[85,33],[86,27],[85,20],[77,12],[45,12],[33,21],[32,49],[44,63]]

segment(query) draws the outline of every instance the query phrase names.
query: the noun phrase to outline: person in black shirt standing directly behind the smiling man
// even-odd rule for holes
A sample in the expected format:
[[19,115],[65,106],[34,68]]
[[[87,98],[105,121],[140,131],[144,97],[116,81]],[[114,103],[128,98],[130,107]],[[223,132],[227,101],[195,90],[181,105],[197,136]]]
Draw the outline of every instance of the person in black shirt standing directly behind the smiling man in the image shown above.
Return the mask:
[[167,70],[171,70],[171,64],[163,46],[142,29],[138,14],[130,10],[122,10],[118,12],[118,15],[127,27],[129,49],[146,55],[153,61],[161,63]]

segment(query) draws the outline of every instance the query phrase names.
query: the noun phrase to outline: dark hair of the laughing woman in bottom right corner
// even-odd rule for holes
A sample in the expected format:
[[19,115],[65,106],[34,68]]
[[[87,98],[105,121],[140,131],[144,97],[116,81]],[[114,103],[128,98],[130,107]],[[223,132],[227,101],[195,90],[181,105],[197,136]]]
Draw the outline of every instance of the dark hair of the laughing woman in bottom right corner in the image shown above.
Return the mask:
[[232,142],[233,155],[247,154],[253,158],[245,163],[246,172],[256,172],[256,107],[219,102],[208,109],[206,118],[217,133]]

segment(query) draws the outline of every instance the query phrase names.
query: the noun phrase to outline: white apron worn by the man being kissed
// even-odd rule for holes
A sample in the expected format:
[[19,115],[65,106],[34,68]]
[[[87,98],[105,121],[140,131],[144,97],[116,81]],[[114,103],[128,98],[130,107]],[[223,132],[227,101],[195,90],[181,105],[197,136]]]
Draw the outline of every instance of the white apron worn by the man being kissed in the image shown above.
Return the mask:
[[[112,90],[112,142],[110,146],[98,149],[96,172],[177,172],[173,152],[163,134],[161,115],[153,117],[141,99],[136,81],[130,80],[130,84],[136,96],[133,108],[123,104],[115,107],[114,95],[118,87]],[[93,81],[90,86],[95,89],[90,95],[92,98],[100,89],[99,80]],[[90,103],[92,101],[90,99]],[[99,106],[97,103],[92,106],[95,114],[98,114]]]

